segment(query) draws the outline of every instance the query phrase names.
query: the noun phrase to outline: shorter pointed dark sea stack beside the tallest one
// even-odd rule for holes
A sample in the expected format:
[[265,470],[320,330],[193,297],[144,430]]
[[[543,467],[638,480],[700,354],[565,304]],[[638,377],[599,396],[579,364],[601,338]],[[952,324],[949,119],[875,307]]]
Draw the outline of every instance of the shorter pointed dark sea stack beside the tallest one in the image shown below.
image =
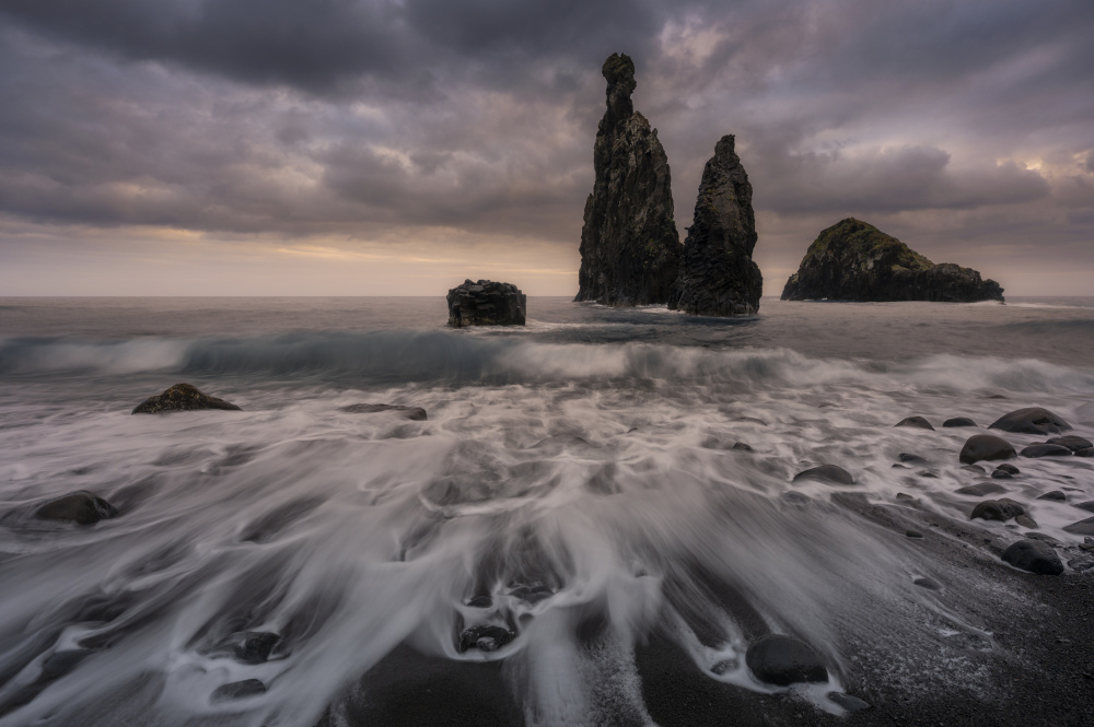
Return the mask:
[[755,247],[752,185],[733,150],[733,136],[726,134],[702,169],[668,307],[697,316],[756,313],[764,277],[752,259]]

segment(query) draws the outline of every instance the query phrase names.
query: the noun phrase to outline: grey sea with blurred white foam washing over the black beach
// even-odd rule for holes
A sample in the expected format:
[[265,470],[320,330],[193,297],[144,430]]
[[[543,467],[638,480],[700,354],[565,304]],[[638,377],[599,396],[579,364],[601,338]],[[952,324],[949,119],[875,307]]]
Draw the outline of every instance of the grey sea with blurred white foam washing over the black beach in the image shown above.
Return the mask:
[[[992,480],[958,452],[1023,407],[1091,438],[1094,298],[527,308],[451,329],[443,297],[0,298],[0,726],[383,725],[354,715],[395,714],[404,677],[403,708],[466,724],[491,700],[656,724],[654,633],[700,679],[830,714],[871,649],[924,689],[990,679],[968,645],[991,649],[994,587],[863,512],[967,523],[982,497],[955,491]],[[130,414],[181,382],[242,411]],[[1006,496],[1081,541],[1094,458],[1013,461]],[[794,481],[822,464],[854,483]],[[79,490],[117,517],[33,516]],[[759,681],[769,633],[828,681]],[[464,667],[496,679],[481,710],[421,678]]]

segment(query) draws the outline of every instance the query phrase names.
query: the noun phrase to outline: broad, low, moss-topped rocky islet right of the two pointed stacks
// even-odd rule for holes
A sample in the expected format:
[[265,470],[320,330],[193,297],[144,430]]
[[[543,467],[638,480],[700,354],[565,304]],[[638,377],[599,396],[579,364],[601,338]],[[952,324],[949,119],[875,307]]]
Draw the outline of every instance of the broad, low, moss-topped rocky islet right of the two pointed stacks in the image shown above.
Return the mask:
[[896,237],[848,218],[821,233],[782,290],[783,301],[1002,301],[1003,289],[950,262],[935,265]]

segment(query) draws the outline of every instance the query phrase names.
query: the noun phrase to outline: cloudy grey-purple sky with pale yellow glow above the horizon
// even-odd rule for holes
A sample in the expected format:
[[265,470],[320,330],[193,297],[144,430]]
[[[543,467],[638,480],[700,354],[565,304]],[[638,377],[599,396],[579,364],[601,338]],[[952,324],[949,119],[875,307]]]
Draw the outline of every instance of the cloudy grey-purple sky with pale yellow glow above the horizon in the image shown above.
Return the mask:
[[847,216],[1094,295],[1091,0],[0,0],[0,295],[573,295],[613,52],[766,295]]

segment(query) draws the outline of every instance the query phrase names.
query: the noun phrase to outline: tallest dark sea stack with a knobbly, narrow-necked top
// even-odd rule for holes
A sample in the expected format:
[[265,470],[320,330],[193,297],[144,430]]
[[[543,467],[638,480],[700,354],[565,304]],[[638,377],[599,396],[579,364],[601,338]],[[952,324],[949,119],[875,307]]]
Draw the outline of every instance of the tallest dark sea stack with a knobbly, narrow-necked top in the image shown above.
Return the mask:
[[668,157],[657,130],[635,110],[635,63],[613,54],[602,69],[607,110],[596,130],[593,194],[581,228],[574,301],[666,303],[679,271]]

